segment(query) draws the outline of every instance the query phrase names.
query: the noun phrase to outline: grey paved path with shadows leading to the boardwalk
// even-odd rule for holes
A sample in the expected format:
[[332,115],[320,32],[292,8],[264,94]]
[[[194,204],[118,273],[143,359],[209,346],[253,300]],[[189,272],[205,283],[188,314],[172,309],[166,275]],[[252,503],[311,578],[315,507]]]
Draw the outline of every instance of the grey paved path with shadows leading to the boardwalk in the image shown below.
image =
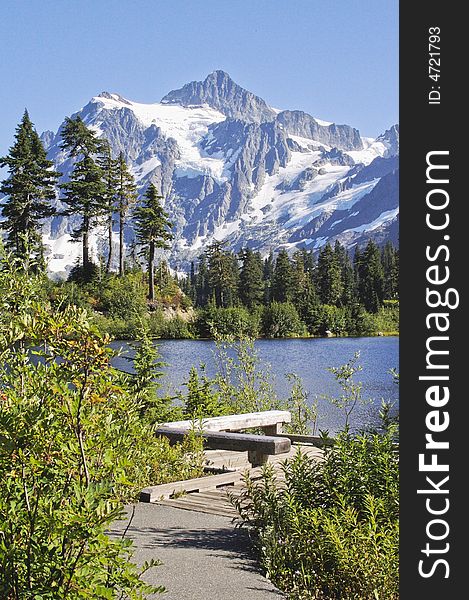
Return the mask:
[[[126,522],[114,525],[121,533]],[[284,596],[256,569],[244,530],[232,519],[139,503],[127,536],[134,540],[135,562],[163,562],[145,579],[164,585],[164,600],[279,600]]]

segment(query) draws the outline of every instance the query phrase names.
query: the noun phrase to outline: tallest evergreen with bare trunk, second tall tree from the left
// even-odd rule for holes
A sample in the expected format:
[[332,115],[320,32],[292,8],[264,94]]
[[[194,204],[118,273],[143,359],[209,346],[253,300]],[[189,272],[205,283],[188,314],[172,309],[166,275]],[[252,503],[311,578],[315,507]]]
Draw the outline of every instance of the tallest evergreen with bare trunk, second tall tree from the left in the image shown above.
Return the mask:
[[61,185],[65,191],[63,202],[68,206],[65,215],[78,215],[81,222],[72,232],[72,239],[82,240],[82,264],[85,277],[91,272],[90,232],[97,219],[107,212],[106,186],[103,170],[97,155],[103,148],[102,141],[88,129],[80,116],[67,117],[62,130],[62,148],[76,157],[70,181]]

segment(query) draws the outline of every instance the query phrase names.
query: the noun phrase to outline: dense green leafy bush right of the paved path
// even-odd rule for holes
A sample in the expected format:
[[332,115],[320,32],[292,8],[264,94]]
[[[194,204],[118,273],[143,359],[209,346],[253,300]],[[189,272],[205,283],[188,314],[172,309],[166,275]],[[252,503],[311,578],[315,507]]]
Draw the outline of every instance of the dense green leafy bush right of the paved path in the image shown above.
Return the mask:
[[398,459],[391,435],[338,436],[324,461],[297,452],[232,499],[267,576],[288,597],[396,600]]

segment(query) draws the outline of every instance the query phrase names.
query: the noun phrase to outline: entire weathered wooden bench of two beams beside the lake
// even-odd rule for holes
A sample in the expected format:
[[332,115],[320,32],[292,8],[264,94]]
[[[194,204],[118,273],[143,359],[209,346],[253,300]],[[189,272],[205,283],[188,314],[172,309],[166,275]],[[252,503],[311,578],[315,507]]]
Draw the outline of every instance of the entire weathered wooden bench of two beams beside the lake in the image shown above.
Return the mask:
[[[203,419],[200,428],[206,448],[237,452],[247,450],[248,460],[255,467],[265,464],[270,455],[290,451],[291,440],[281,437],[283,424],[290,421],[289,411],[268,410]],[[193,421],[173,421],[163,423],[156,433],[166,436],[172,444],[175,444],[181,442],[191,429],[197,430],[197,426],[198,423]],[[260,428],[266,435],[239,433],[251,428]]]

